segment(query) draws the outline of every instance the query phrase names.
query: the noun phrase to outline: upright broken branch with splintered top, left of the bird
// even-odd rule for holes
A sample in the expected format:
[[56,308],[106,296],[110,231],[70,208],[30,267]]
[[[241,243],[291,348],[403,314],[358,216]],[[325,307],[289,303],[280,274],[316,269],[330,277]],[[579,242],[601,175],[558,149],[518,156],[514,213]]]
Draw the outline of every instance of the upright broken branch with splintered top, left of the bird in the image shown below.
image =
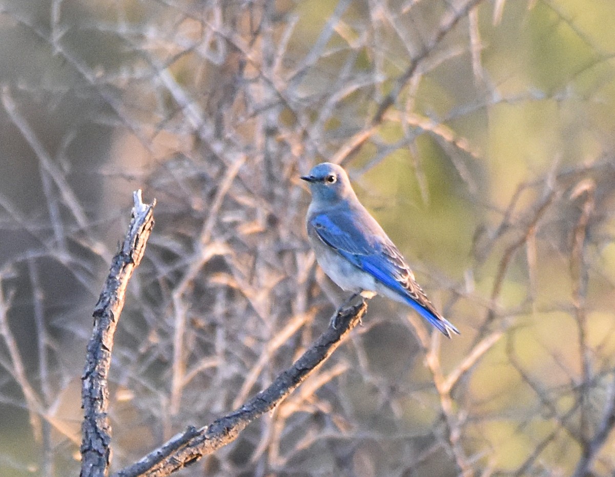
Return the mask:
[[124,308],[126,287],[132,272],[138,267],[154,226],[153,209],[156,200],[144,204],[141,191],[133,193],[134,207],[124,243],[113,258],[103,291],[94,307],[92,337],[87,345],[82,379],[81,407],[81,477],[108,475],[111,425],[107,415],[109,390],[107,377],[111,365],[111,350],[117,321]]

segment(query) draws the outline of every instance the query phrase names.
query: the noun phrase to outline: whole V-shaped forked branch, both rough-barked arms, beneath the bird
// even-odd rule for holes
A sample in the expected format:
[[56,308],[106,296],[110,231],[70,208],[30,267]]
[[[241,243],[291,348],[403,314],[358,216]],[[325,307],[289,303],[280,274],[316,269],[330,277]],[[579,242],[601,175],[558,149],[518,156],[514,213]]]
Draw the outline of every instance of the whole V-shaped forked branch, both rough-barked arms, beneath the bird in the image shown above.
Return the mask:
[[[107,415],[107,380],[111,350],[119,315],[124,307],[125,290],[145,252],[149,233],[154,225],[153,204],[141,202],[135,192],[135,207],[129,231],[121,251],[114,257],[111,270],[94,310],[94,328],[87,347],[83,375],[81,476],[105,477],[110,460],[111,425]],[[271,411],[287,398],[339,346],[344,337],[360,323],[367,311],[367,301],[355,295],[344,303],[328,329],[286,371],[280,373],[268,388],[253,396],[235,411],[202,428],[188,427],[137,463],[117,472],[114,477],[167,476],[203,455],[211,454],[231,443],[253,420]]]

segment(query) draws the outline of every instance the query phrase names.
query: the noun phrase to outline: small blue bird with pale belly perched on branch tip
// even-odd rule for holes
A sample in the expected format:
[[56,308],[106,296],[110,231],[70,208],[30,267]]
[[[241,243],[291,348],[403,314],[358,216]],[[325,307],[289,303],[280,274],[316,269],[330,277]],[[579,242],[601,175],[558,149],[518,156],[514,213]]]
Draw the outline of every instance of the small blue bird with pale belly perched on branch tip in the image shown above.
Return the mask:
[[[301,176],[312,194],[308,239],[322,270],[344,291],[410,305],[446,337],[459,330],[436,310],[395,244],[363,207],[346,170],[331,162]],[[336,327],[335,323],[331,323]]]

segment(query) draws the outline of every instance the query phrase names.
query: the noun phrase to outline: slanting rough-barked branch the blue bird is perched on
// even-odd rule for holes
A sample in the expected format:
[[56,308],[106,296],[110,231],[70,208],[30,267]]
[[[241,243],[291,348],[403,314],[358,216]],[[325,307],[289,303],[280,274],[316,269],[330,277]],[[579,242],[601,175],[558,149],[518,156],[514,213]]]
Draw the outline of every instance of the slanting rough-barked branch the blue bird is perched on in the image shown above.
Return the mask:
[[[293,366],[280,373],[268,388],[208,426],[198,430],[189,427],[184,433],[174,436],[163,446],[139,462],[117,472],[113,477],[167,476],[234,441],[250,422],[284,401],[360,323],[367,311],[367,300],[360,295],[353,298],[349,300],[349,304],[342,305],[336,311],[336,328],[328,327]],[[359,302],[357,298],[360,299]]]

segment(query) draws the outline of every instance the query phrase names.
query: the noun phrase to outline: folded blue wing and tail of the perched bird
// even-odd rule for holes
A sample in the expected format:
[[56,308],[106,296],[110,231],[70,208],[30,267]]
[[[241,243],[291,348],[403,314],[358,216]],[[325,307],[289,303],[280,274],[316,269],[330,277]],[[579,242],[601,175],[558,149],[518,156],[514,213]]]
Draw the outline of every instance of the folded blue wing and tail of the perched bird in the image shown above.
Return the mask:
[[325,244],[400,295],[443,334],[450,337],[448,329],[459,334],[427,299],[397,247],[371,216],[328,212],[315,214],[309,225]]

